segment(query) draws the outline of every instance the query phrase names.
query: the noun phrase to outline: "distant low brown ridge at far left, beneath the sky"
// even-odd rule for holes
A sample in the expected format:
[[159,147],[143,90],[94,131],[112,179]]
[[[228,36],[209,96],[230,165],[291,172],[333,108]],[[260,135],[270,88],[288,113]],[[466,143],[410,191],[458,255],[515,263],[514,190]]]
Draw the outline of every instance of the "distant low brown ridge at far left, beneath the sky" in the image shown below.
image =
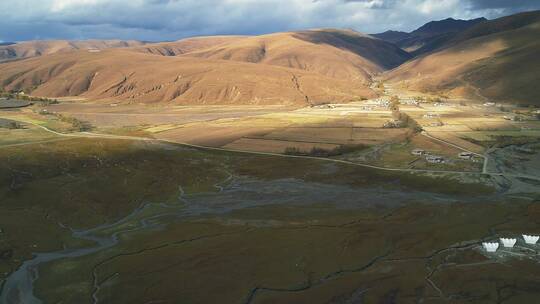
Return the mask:
[[35,40],[0,46],[0,62],[24,59],[74,50],[104,50],[108,48],[133,47],[144,42],[134,40]]

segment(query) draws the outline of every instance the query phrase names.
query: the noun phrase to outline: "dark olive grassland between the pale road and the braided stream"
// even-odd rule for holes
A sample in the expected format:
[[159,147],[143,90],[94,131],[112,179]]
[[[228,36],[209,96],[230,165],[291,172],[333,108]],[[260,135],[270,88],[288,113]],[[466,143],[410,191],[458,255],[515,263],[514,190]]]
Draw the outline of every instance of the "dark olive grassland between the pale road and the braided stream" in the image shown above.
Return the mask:
[[[0,228],[8,257],[1,263],[4,277],[31,252],[80,245],[66,227],[114,222],[145,202],[177,202],[180,193],[216,191],[227,172],[262,180],[297,178],[354,187],[392,180],[408,189],[437,188],[431,178],[409,174],[346,165],[329,170],[317,160],[238,156],[128,140],[74,138],[6,146],[0,159]],[[29,221],[33,226],[26,225]],[[46,236],[38,231],[47,231]]]

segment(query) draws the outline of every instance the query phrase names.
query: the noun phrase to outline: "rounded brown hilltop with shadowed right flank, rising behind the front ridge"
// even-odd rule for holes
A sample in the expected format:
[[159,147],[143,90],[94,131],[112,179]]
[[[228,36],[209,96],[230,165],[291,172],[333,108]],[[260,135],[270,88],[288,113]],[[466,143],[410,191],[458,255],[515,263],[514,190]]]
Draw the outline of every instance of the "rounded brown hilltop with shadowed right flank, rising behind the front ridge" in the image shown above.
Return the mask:
[[183,56],[276,65],[364,84],[410,58],[390,43],[348,30],[254,36]]

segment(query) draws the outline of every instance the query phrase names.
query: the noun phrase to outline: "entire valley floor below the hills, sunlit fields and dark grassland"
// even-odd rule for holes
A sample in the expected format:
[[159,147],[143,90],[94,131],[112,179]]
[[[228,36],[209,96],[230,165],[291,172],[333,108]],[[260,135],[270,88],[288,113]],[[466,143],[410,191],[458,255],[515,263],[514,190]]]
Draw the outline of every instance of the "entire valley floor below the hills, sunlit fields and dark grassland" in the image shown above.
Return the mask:
[[400,112],[423,130],[377,100],[1,111],[0,302],[536,299],[540,247],[481,242],[540,232],[538,122]]

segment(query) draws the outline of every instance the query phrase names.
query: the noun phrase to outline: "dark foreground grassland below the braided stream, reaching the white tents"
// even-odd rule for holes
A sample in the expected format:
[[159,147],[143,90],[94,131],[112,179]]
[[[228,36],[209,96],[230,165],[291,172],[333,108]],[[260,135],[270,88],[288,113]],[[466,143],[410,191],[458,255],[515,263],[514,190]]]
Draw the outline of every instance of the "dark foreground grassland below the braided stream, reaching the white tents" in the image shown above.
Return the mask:
[[[37,287],[50,302],[78,303],[489,303],[501,290],[530,301],[538,277],[518,269],[537,273],[536,262],[501,266],[478,242],[534,229],[537,213],[521,203],[248,208],[126,234],[113,250],[47,264]],[[474,275],[456,280],[464,273]]]

